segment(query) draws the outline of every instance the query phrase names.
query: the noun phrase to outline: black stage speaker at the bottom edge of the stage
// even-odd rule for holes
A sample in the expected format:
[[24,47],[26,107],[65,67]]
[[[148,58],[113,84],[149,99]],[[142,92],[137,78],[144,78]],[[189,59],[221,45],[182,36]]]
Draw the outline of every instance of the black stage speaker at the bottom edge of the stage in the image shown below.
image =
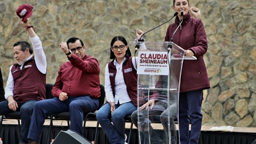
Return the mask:
[[75,131],[60,131],[52,144],[92,144],[89,140],[82,135],[77,134]]

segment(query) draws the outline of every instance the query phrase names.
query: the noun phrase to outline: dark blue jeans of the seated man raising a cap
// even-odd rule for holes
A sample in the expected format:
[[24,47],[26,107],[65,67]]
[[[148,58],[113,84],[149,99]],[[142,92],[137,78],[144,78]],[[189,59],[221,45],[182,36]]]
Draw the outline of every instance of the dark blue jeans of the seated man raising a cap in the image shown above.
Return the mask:
[[[29,133],[29,126],[31,122],[32,112],[34,108],[34,104],[37,100],[28,100],[23,103],[17,103],[18,108],[16,111],[20,111],[21,117],[21,139],[20,143],[28,143],[28,133]],[[6,115],[13,112],[8,107],[8,101],[0,102],[0,115]]]

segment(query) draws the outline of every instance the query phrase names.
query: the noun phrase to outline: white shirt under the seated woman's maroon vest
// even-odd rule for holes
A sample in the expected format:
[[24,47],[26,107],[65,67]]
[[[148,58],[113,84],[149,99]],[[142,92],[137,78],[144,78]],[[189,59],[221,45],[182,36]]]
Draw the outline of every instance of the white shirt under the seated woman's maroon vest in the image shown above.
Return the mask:
[[[113,96],[113,91],[111,88],[110,84],[110,78],[109,78],[109,70],[108,70],[108,64],[106,65],[105,68],[105,92],[106,92],[106,100],[108,102],[115,102],[115,104],[126,103],[131,101],[128,92],[127,92],[127,87],[124,83],[124,78],[123,78],[123,73],[122,73],[122,66],[123,62],[126,60],[126,58],[123,59],[123,61],[118,64],[116,59],[114,60],[114,65],[116,66],[117,69],[117,74],[115,77],[115,98]],[[138,58],[136,57],[136,63],[135,63],[135,57],[132,58],[133,66],[136,68],[136,63],[138,63]]]

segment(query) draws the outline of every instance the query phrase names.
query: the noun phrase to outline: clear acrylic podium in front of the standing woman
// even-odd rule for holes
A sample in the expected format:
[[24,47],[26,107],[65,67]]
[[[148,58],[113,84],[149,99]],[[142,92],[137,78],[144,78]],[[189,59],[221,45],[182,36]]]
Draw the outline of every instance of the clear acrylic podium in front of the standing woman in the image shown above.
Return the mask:
[[[138,42],[130,42],[130,47],[133,47]],[[139,42],[140,48],[138,59],[141,53],[164,52],[167,54],[169,42]],[[146,54],[145,54],[146,55]],[[143,55],[143,57],[145,57]],[[195,57],[184,56],[185,51],[180,46],[172,43],[172,48],[168,54],[168,68],[165,68],[165,74],[161,69],[161,62],[154,64],[147,61],[148,64],[141,64],[138,60],[138,135],[139,144],[176,144],[179,134],[177,134],[176,124],[178,123],[178,101],[181,79],[181,69],[183,60],[196,60]],[[141,61],[142,62],[142,61]],[[152,61],[153,62],[153,61]],[[165,61],[166,62],[166,61]],[[149,87],[150,75],[139,72],[139,68],[151,66],[162,73],[155,73],[156,84],[155,88]],[[153,66],[153,67],[152,67]],[[154,68],[155,67],[155,68]],[[165,66],[166,67],[166,66]],[[145,70],[146,71],[146,70]],[[142,74],[141,74],[142,73]],[[140,108],[145,102],[154,101],[154,106],[149,105],[147,110]],[[179,124],[179,123],[178,123]]]

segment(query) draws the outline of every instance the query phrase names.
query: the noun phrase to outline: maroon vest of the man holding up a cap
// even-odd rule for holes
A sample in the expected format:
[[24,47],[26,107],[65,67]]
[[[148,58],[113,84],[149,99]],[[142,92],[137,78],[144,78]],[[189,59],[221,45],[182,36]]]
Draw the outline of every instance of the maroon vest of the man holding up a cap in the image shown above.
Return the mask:
[[14,63],[11,74],[14,81],[13,99],[16,102],[46,99],[46,74],[37,69],[34,56],[23,64],[22,70],[18,63]]

